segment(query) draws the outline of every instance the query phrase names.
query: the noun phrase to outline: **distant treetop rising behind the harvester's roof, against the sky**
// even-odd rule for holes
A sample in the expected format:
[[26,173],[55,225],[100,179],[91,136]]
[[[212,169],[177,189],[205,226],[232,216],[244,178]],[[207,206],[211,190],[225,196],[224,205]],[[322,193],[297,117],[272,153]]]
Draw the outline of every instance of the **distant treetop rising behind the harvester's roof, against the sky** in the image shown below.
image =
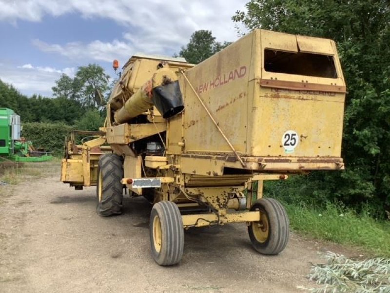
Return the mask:
[[184,57],[189,63],[197,64],[229,44],[230,42],[216,42],[209,30],[198,30],[191,35],[190,42],[185,47],[181,47],[179,56]]

